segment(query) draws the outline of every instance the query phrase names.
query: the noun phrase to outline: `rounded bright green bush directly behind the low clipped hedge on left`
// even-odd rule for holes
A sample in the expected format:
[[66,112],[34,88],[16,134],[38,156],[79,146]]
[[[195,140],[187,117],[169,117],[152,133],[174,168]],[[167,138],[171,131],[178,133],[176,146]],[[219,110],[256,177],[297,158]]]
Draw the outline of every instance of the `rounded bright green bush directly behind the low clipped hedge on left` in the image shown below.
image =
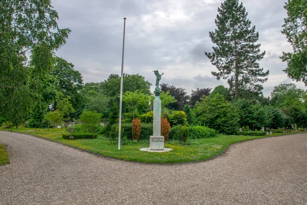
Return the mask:
[[84,122],[83,126],[89,129],[90,133],[96,133],[95,128],[101,121],[101,114],[96,111],[83,111],[79,120]]

